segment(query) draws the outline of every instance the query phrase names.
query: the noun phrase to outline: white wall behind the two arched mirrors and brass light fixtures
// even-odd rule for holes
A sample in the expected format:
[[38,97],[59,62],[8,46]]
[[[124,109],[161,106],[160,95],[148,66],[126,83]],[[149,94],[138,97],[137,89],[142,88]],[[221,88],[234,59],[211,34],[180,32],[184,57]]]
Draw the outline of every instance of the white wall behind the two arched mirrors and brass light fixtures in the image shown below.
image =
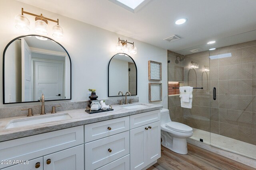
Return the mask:
[[[116,54],[115,44],[118,41],[118,37],[120,37],[120,39],[127,39],[130,42],[134,41],[134,44],[138,49],[136,55],[130,56],[134,59],[138,68],[138,96],[140,102],[148,103],[148,60],[152,60],[162,63],[161,82],[163,84],[162,101],[153,102],[153,104],[162,104],[165,108],[168,107],[167,50],[130,37],[125,37],[124,35],[118,35],[117,33],[87,23],[60,16],[28,4],[23,4],[15,0],[0,1],[0,15],[3,16],[1,17],[1,21],[4,23],[4,25],[0,27],[1,54],[7,43],[15,37],[24,34],[34,34],[34,17],[32,16],[24,14],[30,20],[30,31],[24,32],[14,27],[14,17],[21,13],[21,8],[35,14],[42,13],[48,18],[59,19],[60,25],[64,29],[64,38],[56,39],[52,37],[51,29],[55,23],[51,21],[48,22],[48,37],[61,43],[70,54],[72,61],[72,102],[87,100],[88,88],[96,89],[96,94],[99,96],[98,99],[108,98],[108,62],[111,57]],[[0,66],[2,67],[2,56],[0,59]],[[2,80],[2,69],[0,69],[0,80]],[[0,89],[0,96],[2,96],[2,87]],[[21,105],[31,105],[31,103],[3,105],[2,97],[0,97],[0,107]]]

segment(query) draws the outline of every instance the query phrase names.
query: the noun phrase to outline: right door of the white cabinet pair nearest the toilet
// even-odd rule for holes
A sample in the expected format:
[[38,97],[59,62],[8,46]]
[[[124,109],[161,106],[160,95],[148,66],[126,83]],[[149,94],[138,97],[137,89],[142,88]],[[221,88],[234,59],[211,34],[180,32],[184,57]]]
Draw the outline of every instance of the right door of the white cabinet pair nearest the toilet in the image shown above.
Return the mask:
[[148,124],[148,164],[161,157],[161,126],[160,121]]

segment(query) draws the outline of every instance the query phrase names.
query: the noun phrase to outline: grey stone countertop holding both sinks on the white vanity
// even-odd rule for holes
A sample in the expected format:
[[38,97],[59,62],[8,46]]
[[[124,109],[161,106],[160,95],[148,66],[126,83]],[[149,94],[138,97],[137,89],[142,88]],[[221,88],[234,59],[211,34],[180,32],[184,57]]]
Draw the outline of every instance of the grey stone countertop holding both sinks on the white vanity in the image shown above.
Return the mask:
[[[132,106],[132,105],[138,105],[138,104],[145,105],[145,107],[134,108],[134,109],[123,108],[124,106]],[[157,109],[161,109],[163,106],[154,105],[154,104],[134,103],[134,104],[127,104],[127,105],[114,105],[112,107],[114,109],[113,111],[106,111],[102,113],[93,113],[93,114],[86,113],[84,109],[60,111],[60,112],[54,113],[54,115],[68,113],[72,118],[67,120],[51,121],[48,123],[26,125],[22,127],[14,127],[9,129],[6,129],[6,125],[8,125],[8,123],[11,120],[22,119],[22,118],[24,119],[28,117],[20,116],[20,117],[9,117],[9,118],[0,119],[0,142],[16,139],[20,137],[26,137],[30,135],[36,135],[40,133],[46,133],[50,131],[56,131],[56,130],[65,129],[69,127],[85,125],[85,124],[94,123],[98,121],[104,121],[104,120],[114,119],[118,117],[134,115],[134,114],[143,113],[146,111],[157,110]],[[45,115],[37,114],[32,116],[31,118],[43,117],[48,115],[53,115],[53,114],[51,113],[46,113]]]

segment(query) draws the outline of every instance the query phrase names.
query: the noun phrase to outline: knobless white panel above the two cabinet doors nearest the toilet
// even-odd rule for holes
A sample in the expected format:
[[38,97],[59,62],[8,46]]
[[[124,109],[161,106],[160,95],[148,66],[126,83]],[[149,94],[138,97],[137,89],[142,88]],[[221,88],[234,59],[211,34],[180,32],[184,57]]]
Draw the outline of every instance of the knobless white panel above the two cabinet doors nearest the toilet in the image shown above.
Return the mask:
[[160,121],[160,109],[130,116],[130,129]]

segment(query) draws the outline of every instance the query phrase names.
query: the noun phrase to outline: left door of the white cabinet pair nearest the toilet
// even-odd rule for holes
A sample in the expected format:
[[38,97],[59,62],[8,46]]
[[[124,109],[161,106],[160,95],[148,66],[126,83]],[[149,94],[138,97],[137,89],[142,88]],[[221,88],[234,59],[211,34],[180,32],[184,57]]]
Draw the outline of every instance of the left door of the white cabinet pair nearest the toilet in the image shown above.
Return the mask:
[[147,126],[130,130],[130,169],[141,170],[148,164]]

